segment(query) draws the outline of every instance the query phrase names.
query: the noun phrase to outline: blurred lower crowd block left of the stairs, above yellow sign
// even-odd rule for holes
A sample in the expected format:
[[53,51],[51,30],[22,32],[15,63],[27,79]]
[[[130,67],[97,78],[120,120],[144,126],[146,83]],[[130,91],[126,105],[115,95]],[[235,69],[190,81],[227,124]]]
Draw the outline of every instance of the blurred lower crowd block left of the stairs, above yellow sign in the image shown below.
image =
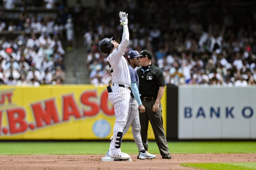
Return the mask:
[[0,41],[0,82],[7,85],[61,84],[65,79],[65,51],[57,34],[39,38],[20,34],[13,41]]

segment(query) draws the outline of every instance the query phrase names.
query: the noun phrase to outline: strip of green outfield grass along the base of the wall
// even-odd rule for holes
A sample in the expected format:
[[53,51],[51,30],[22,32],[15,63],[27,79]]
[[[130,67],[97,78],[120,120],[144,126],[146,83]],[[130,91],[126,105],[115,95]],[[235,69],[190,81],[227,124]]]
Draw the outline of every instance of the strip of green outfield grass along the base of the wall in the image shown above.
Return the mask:
[[[105,154],[110,142],[0,142],[1,155]],[[170,153],[256,153],[256,142],[168,142]],[[122,151],[137,154],[135,142],[123,141]],[[158,154],[156,142],[148,151]]]

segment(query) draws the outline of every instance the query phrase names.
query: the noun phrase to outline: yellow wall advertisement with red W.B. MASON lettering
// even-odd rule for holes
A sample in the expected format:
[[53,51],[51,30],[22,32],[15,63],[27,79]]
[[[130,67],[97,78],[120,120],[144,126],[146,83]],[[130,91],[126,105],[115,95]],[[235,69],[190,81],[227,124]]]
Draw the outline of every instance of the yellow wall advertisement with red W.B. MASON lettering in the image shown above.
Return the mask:
[[[164,93],[164,129],[165,99]],[[110,139],[114,123],[105,86],[0,87],[0,139]],[[131,128],[124,139],[133,139]]]

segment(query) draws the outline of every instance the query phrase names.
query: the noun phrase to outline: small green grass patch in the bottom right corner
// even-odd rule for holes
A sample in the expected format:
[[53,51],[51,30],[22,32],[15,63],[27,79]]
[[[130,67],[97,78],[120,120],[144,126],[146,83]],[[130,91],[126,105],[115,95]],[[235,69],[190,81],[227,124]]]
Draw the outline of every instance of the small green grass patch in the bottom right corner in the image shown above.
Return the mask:
[[180,164],[181,166],[205,170],[244,170],[256,169],[256,162],[230,162],[230,163],[199,163]]

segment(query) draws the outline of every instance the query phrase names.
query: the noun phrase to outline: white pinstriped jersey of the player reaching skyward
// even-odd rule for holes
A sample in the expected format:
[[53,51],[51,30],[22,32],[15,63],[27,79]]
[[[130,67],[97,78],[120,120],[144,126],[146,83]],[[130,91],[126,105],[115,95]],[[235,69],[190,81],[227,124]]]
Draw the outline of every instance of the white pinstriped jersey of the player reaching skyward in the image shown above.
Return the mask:
[[124,50],[127,47],[129,40],[122,40],[120,45],[108,55],[110,72],[112,75],[112,84],[121,84],[131,86],[131,77],[129,68],[124,58]]

